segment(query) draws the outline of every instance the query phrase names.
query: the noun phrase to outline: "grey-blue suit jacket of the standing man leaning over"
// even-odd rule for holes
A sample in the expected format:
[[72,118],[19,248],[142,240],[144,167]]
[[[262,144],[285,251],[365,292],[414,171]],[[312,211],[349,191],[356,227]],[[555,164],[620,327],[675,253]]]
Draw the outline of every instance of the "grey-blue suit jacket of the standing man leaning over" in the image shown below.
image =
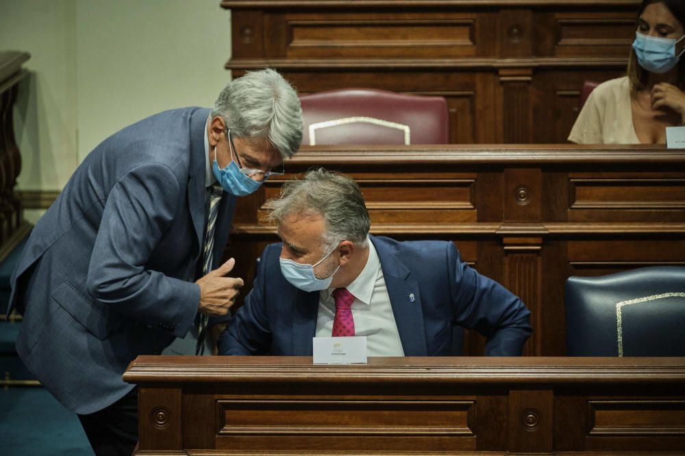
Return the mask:
[[[12,274],[16,347],[65,407],[101,410],[141,354],[184,336],[199,304],[208,109],[165,111],[105,139],[43,215]],[[214,265],[235,198],[224,193]],[[199,260],[199,261],[198,261]]]

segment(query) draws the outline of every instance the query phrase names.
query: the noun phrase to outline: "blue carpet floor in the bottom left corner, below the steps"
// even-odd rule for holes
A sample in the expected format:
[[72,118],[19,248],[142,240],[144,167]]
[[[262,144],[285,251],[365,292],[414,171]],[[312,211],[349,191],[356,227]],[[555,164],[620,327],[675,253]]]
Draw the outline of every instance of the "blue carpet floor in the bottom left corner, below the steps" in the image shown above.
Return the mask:
[[40,387],[0,389],[0,455],[92,456],[79,418]]

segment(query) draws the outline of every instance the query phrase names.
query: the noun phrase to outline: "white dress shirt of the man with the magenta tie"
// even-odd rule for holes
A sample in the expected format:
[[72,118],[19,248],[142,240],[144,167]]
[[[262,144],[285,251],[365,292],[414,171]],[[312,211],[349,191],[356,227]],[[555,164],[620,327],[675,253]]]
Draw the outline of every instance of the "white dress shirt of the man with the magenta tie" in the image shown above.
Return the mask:
[[[395,323],[393,306],[383,278],[383,270],[375,247],[369,238],[369,258],[360,275],[347,286],[352,293],[352,318],[355,336],[366,336],[368,356],[404,356]],[[319,293],[319,314],[316,317],[316,336],[330,337],[336,316],[332,288]]]

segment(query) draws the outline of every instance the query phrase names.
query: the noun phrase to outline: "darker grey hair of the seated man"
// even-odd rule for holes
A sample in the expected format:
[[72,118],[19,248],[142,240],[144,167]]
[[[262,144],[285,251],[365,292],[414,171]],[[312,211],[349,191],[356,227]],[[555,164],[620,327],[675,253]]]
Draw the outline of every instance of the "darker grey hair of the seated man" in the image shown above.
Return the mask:
[[290,215],[321,215],[325,223],[324,250],[340,241],[366,246],[371,219],[357,183],[323,168],[309,170],[301,179],[286,182],[281,196],[269,201],[269,219],[281,224]]

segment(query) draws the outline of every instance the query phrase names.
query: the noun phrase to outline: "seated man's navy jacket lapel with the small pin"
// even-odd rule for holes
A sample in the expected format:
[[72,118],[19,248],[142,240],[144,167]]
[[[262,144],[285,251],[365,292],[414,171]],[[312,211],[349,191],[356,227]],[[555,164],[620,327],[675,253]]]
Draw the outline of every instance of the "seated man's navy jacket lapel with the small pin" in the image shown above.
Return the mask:
[[386,249],[382,239],[371,237],[371,241],[381,262],[404,356],[428,356],[419,282],[412,279],[400,254]]

